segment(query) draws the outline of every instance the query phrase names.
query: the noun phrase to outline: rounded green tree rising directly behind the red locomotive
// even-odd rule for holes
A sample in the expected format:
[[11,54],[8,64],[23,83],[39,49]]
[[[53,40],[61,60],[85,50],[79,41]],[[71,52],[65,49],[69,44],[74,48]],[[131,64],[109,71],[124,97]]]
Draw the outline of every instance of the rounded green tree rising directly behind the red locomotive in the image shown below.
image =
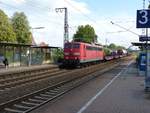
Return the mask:
[[97,40],[97,35],[95,34],[95,30],[92,26],[81,25],[78,27],[76,33],[74,34],[73,40],[91,43]]

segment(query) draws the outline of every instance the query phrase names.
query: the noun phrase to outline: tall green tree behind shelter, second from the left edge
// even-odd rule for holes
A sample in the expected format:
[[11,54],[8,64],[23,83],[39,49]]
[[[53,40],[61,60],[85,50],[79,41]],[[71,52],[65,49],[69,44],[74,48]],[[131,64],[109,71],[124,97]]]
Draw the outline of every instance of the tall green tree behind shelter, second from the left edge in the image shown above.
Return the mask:
[[26,15],[23,12],[16,12],[12,17],[11,22],[14,32],[16,33],[17,42],[23,44],[31,44],[32,39],[30,26]]

